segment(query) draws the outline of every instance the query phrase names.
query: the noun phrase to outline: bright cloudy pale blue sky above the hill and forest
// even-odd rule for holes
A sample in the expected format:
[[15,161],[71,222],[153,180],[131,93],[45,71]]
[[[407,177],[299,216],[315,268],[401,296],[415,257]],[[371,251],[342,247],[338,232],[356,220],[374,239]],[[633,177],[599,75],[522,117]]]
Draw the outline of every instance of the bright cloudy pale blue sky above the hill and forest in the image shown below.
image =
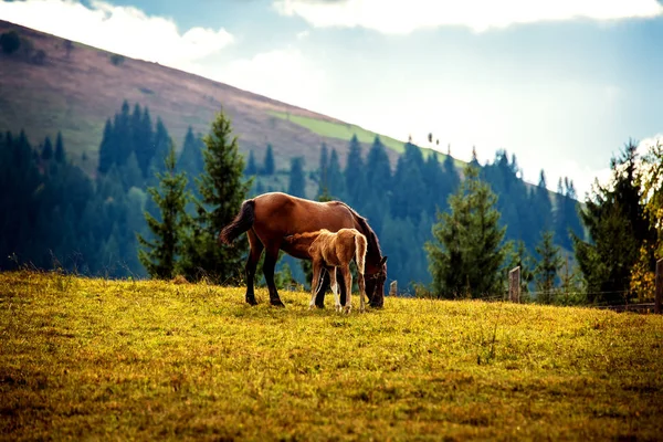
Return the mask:
[[0,0],[0,19],[192,72],[583,198],[663,134],[660,0]]

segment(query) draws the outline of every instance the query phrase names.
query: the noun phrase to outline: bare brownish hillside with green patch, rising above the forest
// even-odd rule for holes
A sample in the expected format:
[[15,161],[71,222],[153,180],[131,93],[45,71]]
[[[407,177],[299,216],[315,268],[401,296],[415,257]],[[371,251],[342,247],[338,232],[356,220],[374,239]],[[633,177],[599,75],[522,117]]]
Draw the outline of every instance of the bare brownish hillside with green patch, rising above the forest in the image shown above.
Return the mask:
[[[281,103],[157,63],[118,57],[74,43],[67,55],[64,40],[0,20],[0,33],[15,30],[32,42],[33,53],[44,51],[43,64],[24,55],[0,53],[0,130],[25,129],[35,143],[54,138],[62,130],[74,160],[86,152],[88,172],[97,164],[97,151],[106,118],[122,102],[147,106],[160,116],[178,146],[188,126],[207,133],[213,115],[223,108],[240,137],[240,148],[263,158],[266,144],[274,146],[276,166],[304,156],[307,167],[319,160],[322,143],[336,148],[343,161],[348,140],[357,134],[369,144],[373,133],[338,119]],[[381,137],[392,165],[402,141]],[[180,146],[181,147],[181,146]]]

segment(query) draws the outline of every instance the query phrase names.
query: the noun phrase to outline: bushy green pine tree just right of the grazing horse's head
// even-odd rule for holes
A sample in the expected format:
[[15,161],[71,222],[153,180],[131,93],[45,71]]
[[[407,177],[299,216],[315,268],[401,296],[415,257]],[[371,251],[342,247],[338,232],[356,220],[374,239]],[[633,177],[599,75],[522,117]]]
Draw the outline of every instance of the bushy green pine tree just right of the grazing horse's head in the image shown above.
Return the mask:
[[425,243],[432,287],[439,297],[491,296],[501,292],[505,228],[497,197],[467,165],[465,179],[449,198],[450,212],[438,212],[433,241]]

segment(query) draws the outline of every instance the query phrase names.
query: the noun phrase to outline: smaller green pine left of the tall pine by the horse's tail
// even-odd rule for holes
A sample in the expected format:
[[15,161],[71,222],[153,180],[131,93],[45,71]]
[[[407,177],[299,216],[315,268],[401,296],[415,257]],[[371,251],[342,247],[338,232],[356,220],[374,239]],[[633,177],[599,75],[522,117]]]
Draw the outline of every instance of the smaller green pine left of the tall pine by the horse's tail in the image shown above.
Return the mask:
[[154,187],[147,189],[160,210],[160,221],[145,212],[147,225],[155,240],[149,242],[140,234],[137,238],[144,248],[138,251],[138,259],[150,277],[169,280],[175,276],[177,257],[181,251],[187,178],[182,172],[175,171],[175,146],[171,145],[164,162],[164,171],[157,173],[160,192]]

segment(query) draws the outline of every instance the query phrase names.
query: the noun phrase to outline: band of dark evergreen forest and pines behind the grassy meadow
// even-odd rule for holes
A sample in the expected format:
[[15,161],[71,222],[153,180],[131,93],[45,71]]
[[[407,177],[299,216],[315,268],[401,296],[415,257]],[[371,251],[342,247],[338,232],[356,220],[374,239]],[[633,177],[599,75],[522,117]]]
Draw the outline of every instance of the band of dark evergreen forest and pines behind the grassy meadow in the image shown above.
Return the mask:
[[[23,133],[0,137],[0,179],[17,189],[0,206],[8,209],[0,215],[3,232],[10,232],[0,241],[1,267],[32,263],[109,277],[238,282],[245,248],[219,248],[215,235],[244,198],[282,190],[341,199],[367,217],[390,256],[390,280],[411,293],[501,293],[513,265],[522,266],[524,290],[540,302],[559,302],[559,292],[583,294],[572,302],[617,302],[624,294],[642,297],[653,284],[661,241],[660,221],[652,219],[661,218],[661,185],[635,167],[634,147],[613,160],[613,182],[596,187],[579,211],[572,181],[562,179],[558,192],[549,192],[541,170],[537,186],[526,185],[516,157],[504,150],[483,167],[474,152],[460,169],[450,151],[408,143],[392,169],[378,137],[366,151],[352,137],[345,167],[323,145],[316,168],[306,171],[303,158],[292,158],[280,186],[271,179],[277,173],[272,146],[261,161],[253,151],[244,161],[222,114],[207,136],[189,128],[177,156],[160,118],[152,122],[138,104],[129,109],[123,103],[106,122],[94,178],[66,158],[62,136],[34,148]],[[660,151],[652,148],[646,158],[660,159]],[[306,190],[313,187],[315,194]],[[615,239],[623,242],[610,243]],[[606,254],[615,246],[629,251],[621,261]],[[298,265],[291,266],[304,282]],[[290,269],[281,276],[292,278]]]

